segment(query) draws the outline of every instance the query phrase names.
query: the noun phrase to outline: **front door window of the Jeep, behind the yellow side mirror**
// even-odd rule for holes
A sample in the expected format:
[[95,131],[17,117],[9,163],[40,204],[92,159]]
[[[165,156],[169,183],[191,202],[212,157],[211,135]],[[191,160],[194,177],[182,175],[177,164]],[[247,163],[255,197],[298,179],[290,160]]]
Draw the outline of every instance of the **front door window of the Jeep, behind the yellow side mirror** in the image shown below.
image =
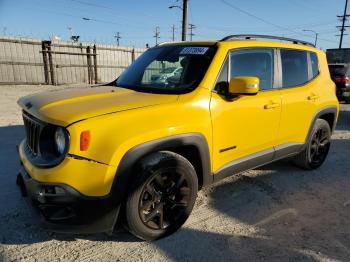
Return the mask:
[[231,52],[231,78],[238,76],[255,76],[260,80],[260,89],[273,87],[273,50],[243,49]]

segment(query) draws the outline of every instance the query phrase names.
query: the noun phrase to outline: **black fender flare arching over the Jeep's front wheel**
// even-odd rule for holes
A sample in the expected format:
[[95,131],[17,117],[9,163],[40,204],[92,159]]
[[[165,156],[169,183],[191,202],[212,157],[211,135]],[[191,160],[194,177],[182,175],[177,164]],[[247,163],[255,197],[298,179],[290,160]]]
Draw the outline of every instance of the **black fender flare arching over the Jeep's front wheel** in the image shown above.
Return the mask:
[[[119,213],[119,207],[125,201],[128,190],[130,190],[131,183],[135,178],[135,176],[132,175],[132,171],[137,162],[150,153],[169,150],[171,148],[178,148],[181,146],[195,146],[197,148],[202,165],[202,174],[197,175],[202,176],[203,186],[213,183],[209,147],[205,137],[202,134],[179,134],[145,142],[129,149],[122,157],[118,165],[110,192],[115,205],[118,206],[117,213]],[[117,222],[117,218],[118,214],[115,216],[115,223]]]

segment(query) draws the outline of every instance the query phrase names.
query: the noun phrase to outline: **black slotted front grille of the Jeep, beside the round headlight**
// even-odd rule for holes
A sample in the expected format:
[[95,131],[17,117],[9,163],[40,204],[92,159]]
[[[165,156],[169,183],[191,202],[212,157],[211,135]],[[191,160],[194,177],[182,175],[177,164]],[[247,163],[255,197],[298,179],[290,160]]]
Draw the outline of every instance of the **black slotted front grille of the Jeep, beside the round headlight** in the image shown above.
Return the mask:
[[33,116],[23,112],[23,122],[26,130],[26,140],[29,149],[34,155],[39,151],[39,137],[42,129],[42,123]]

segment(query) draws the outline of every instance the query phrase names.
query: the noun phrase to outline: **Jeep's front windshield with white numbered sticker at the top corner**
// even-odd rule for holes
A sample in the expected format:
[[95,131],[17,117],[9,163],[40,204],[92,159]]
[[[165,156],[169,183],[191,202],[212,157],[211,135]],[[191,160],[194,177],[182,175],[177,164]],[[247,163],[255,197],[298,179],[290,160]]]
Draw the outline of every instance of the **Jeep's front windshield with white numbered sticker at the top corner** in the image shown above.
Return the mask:
[[190,92],[201,82],[216,49],[181,45],[151,48],[120,75],[115,85],[150,93]]

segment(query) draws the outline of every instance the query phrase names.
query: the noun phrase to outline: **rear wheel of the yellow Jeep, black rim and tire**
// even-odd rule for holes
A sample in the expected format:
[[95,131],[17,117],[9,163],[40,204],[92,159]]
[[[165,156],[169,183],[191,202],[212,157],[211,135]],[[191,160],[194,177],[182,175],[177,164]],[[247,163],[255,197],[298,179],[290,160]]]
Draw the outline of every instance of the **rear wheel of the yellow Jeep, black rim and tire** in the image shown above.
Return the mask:
[[317,119],[305,149],[293,159],[294,164],[309,170],[319,168],[328,155],[331,135],[332,132],[328,122]]

